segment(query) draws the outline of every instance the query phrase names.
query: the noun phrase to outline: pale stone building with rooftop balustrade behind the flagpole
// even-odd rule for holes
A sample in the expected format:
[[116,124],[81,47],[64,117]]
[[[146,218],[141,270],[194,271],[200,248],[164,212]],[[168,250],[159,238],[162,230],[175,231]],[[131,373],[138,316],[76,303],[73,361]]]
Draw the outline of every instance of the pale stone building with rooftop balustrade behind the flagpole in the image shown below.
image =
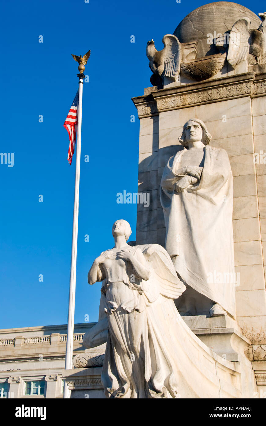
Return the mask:
[[[74,354],[95,323],[75,324]],[[0,330],[0,398],[62,398],[67,325]]]

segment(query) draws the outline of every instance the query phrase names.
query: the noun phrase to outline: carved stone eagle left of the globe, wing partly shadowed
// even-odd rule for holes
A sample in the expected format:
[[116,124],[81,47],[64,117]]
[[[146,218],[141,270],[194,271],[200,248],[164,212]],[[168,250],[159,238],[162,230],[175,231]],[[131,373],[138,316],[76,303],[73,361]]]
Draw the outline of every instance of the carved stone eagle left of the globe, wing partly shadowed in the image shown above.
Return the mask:
[[[181,63],[181,44],[175,35],[167,34],[163,37],[164,49],[158,51],[154,46],[154,41],[147,43],[146,53],[150,60],[149,66],[152,72],[161,77],[169,77],[177,81]],[[154,74],[151,83],[154,84]]]

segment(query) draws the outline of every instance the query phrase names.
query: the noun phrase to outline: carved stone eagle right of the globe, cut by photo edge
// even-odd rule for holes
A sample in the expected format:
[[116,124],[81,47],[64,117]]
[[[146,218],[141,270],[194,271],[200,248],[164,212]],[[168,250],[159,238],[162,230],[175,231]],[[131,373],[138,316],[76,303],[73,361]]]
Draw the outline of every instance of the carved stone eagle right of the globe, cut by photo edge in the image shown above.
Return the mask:
[[249,18],[236,21],[229,35],[227,61],[235,67],[266,63],[266,12],[259,13],[262,20],[258,29],[251,29]]

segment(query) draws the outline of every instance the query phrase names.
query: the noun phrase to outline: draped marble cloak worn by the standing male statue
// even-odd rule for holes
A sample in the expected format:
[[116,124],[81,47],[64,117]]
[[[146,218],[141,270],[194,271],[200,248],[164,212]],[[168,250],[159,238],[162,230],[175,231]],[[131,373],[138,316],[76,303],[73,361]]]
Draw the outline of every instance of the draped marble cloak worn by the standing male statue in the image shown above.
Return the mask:
[[164,169],[160,198],[165,248],[186,284],[235,317],[232,170],[224,149],[204,150],[201,179],[184,192],[174,188],[182,177],[177,171],[186,150],[171,157]]

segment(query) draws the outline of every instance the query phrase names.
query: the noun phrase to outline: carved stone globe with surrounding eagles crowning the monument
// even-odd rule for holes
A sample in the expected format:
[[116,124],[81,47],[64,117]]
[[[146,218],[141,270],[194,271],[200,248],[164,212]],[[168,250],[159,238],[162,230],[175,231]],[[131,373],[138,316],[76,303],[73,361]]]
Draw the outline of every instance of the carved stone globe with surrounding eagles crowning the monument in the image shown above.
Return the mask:
[[185,17],[173,35],[163,37],[164,49],[147,43],[153,86],[180,84],[266,71],[266,13],[260,20],[249,9],[231,2],[200,6]]

